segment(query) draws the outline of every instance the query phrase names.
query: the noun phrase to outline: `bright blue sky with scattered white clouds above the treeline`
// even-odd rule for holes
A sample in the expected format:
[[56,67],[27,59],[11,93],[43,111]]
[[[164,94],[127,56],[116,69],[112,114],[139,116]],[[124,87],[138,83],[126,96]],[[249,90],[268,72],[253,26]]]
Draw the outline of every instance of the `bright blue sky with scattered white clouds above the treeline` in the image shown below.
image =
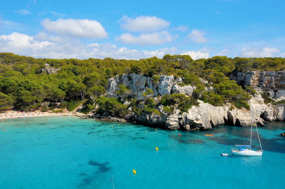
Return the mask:
[[285,57],[283,0],[2,1],[0,52],[35,58]]

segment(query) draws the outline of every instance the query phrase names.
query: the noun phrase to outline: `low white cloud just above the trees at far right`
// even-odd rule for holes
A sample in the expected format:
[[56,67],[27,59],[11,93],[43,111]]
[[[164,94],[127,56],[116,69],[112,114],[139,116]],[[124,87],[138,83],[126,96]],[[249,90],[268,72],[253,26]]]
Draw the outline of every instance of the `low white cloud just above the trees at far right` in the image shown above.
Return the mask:
[[240,56],[241,57],[275,57],[279,53],[280,53],[280,50],[277,48],[269,48],[269,47],[248,48],[248,47],[244,47],[240,52]]

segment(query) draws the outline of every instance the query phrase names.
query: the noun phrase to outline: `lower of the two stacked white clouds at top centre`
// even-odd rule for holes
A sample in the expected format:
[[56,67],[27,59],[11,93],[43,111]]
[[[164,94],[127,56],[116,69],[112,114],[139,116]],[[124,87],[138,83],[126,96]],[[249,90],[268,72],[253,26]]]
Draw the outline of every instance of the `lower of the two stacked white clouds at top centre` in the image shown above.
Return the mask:
[[124,33],[116,40],[121,41],[124,44],[140,44],[140,45],[156,45],[162,43],[172,42],[178,36],[171,36],[167,31],[153,32],[150,34],[140,34],[139,36],[133,36],[130,33]]

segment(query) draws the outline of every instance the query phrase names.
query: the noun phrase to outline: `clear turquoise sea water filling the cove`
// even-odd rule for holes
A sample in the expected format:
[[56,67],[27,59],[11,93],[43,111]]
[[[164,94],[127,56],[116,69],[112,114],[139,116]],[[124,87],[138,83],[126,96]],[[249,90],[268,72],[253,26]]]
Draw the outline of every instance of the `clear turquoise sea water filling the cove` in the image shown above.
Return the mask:
[[[113,188],[112,181],[116,189],[284,187],[285,137],[279,134],[285,132],[284,122],[258,128],[262,157],[230,155],[242,130],[231,126],[156,131],[73,116],[0,124],[7,130],[0,132],[2,189]],[[243,131],[246,135],[240,137],[247,141],[249,128]]]

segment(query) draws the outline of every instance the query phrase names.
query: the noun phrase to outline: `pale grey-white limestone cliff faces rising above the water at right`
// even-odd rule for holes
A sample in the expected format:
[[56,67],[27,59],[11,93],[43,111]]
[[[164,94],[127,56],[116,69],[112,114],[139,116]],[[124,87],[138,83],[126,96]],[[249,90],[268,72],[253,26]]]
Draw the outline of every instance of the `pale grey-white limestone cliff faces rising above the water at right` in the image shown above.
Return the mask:
[[[237,79],[239,84],[251,85],[255,88],[259,87],[260,91],[275,91],[273,96],[277,96],[278,98],[284,97],[284,71],[239,73],[235,79]],[[132,96],[138,100],[144,99],[142,93],[146,92],[146,89],[152,89],[154,96],[163,96],[172,93],[182,93],[191,96],[196,87],[190,85],[181,87],[178,85],[178,83],[181,82],[182,79],[180,77],[176,78],[174,76],[160,75],[158,81],[152,81],[149,77],[143,75],[123,74],[109,79],[106,95],[108,97],[121,98],[121,96],[115,92],[118,91],[118,86],[123,84],[133,92]],[[205,90],[212,90],[212,88],[206,88]],[[198,100],[198,102],[199,106],[192,106],[187,113],[184,112],[180,114],[180,111],[175,109],[174,113],[169,115],[163,112],[163,106],[160,105],[159,109],[162,115],[151,113],[135,115],[131,113],[130,115],[126,115],[125,118],[148,125],[184,130],[204,130],[222,124],[236,126],[248,126],[251,124],[251,112],[248,110],[239,110],[237,108],[230,110],[230,105],[216,107],[200,100]],[[251,98],[249,105],[254,107],[254,116],[258,125],[262,126],[264,121],[285,120],[284,104],[278,104],[276,106],[264,104],[261,95],[257,94]]]

